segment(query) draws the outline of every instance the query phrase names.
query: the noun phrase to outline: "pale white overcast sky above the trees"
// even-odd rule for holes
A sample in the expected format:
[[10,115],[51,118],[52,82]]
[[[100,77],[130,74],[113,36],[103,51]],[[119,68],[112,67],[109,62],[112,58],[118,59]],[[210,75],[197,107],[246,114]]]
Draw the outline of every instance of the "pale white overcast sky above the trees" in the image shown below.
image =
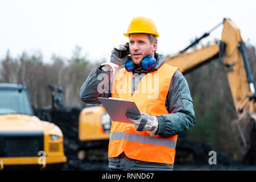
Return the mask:
[[[123,33],[134,16],[154,20],[158,52],[174,54],[192,39],[230,18],[242,39],[256,45],[256,1],[0,1],[0,59],[42,52],[70,58],[76,44],[91,61],[109,59],[110,51],[128,42]],[[221,39],[222,26],[207,40]]]

